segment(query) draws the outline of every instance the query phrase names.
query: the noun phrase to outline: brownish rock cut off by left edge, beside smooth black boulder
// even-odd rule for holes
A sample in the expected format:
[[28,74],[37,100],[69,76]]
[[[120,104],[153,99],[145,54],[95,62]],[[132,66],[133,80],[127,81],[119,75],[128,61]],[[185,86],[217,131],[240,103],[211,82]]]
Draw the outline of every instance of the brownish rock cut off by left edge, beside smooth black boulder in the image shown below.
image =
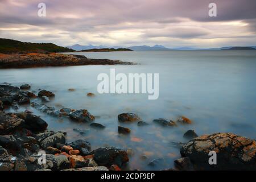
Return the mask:
[[0,111],[0,135],[9,134],[22,127],[23,119],[18,118],[15,114]]

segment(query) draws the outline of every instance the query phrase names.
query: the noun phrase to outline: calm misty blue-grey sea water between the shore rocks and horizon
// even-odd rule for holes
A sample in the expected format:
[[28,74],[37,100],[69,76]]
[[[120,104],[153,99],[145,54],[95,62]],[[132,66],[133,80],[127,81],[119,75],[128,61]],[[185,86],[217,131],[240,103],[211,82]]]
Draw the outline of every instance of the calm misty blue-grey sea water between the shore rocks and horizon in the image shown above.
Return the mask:
[[[180,157],[171,142],[185,142],[183,134],[193,129],[198,135],[232,132],[256,138],[256,51],[168,51],[168,52],[94,52],[78,53],[90,58],[134,61],[139,65],[89,65],[59,68],[2,69],[0,82],[19,86],[31,84],[32,90],[51,90],[55,100],[48,105],[88,109],[96,121],[106,126],[97,131],[86,123],[49,117],[49,129],[68,132],[68,141],[86,139],[92,147],[132,148],[127,168],[164,169],[173,167]],[[147,100],[147,94],[98,94],[97,75],[115,68],[117,73],[159,73],[159,98]],[[76,89],[69,92],[69,88]],[[86,93],[96,97],[90,98]],[[29,107],[29,106],[27,106]],[[21,107],[19,110],[24,110]],[[149,126],[118,123],[117,115],[137,113]],[[192,119],[189,126],[161,127],[152,119],[176,120],[180,115]],[[129,127],[131,134],[118,135],[118,125]],[[85,129],[86,134],[73,132]],[[146,155],[147,159],[141,159]],[[147,163],[163,158],[164,163],[151,168]]]

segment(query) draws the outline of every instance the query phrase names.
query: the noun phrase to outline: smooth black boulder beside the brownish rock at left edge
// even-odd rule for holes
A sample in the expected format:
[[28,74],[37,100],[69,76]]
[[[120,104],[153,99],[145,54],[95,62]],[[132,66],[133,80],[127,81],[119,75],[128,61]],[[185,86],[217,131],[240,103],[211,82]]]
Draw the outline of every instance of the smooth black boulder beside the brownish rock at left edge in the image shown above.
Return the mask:
[[24,127],[31,131],[44,131],[47,129],[47,122],[34,114],[16,113],[16,115],[24,120]]

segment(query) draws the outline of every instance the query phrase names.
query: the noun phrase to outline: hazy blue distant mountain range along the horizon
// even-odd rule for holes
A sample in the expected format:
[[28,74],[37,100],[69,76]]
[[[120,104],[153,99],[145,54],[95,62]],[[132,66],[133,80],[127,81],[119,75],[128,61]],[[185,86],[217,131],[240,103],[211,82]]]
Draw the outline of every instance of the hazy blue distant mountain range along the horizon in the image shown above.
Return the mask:
[[[249,48],[248,48],[249,47]],[[178,47],[178,48],[167,48],[162,45],[155,45],[155,46],[131,46],[127,47],[128,49],[131,49],[133,51],[214,51],[214,50],[225,50],[225,49],[240,49],[240,50],[249,50],[249,49],[256,49],[256,46],[248,46],[248,47],[236,47],[233,48],[232,46],[230,47],[221,47],[221,48],[192,48],[192,47]],[[68,48],[74,49],[76,51],[82,51],[82,50],[88,50],[88,49],[102,49],[102,48],[123,48],[120,46],[114,46],[114,47],[108,47],[108,46],[93,46],[93,45],[88,45],[88,46],[81,46],[80,44],[75,44],[73,46],[68,46]]]

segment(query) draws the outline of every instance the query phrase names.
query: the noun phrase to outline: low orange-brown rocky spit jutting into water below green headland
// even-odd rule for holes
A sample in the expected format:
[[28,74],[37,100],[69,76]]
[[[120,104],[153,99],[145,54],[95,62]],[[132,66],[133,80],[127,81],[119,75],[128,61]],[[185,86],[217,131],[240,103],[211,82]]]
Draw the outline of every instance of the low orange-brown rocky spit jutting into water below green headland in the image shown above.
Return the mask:
[[131,65],[134,63],[109,59],[88,59],[82,55],[61,53],[1,54],[0,68],[61,67],[73,65]]

